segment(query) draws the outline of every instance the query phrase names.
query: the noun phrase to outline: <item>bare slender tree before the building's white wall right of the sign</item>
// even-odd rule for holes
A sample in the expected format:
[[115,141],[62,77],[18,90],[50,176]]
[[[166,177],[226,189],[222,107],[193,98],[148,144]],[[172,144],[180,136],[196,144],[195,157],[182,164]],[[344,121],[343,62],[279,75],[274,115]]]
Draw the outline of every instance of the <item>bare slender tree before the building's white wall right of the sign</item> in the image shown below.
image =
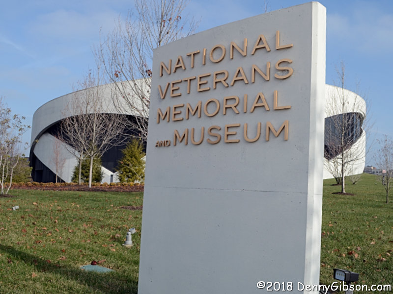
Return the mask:
[[365,158],[365,144],[359,142],[365,136],[366,102],[357,94],[345,89],[345,65],[337,69],[336,93],[327,99],[325,112],[325,167],[341,183],[345,193],[345,176],[356,170]]

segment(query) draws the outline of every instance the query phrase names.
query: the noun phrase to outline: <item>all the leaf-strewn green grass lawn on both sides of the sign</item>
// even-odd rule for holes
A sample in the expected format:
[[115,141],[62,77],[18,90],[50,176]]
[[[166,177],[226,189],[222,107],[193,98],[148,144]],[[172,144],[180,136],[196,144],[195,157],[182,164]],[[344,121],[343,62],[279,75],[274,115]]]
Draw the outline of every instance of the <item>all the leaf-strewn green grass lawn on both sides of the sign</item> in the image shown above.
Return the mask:
[[[393,285],[393,203],[373,175],[348,182],[354,196],[332,194],[340,191],[333,183],[324,182],[321,282],[341,268],[360,273],[361,284]],[[141,210],[120,207],[142,205],[142,193],[10,194],[0,198],[0,293],[137,293]],[[137,234],[127,249],[130,227]],[[92,260],[114,271],[79,269]]]

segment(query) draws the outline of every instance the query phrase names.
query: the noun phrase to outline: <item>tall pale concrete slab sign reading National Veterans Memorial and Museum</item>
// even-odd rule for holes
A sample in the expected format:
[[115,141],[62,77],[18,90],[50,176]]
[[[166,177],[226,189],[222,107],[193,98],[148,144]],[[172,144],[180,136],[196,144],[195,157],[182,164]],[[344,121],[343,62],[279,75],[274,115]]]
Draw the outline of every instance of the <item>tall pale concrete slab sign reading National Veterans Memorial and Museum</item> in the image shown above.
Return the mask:
[[140,294],[318,284],[325,39],[310,2],[154,51]]

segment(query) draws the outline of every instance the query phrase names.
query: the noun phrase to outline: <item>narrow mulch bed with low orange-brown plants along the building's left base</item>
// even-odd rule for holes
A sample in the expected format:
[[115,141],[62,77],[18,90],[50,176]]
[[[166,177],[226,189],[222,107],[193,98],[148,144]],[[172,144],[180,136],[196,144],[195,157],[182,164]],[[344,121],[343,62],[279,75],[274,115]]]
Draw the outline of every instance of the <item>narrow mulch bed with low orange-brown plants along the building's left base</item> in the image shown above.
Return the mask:
[[93,192],[143,192],[144,186],[93,186],[89,188],[86,185],[67,185],[67,186],[26,186],[25,184],[13,184],[13,189],[25,190],[52,190],[52,191],[93,191]]

